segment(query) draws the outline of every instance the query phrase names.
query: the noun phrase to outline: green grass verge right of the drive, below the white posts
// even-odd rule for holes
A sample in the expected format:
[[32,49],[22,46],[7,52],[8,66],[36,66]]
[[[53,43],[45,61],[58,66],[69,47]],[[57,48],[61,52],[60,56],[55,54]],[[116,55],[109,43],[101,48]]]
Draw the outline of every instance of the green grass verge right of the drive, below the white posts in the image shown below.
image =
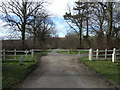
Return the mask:
[[85,64],[92,70],[106,77],[114,84],[120,85],[120,65],[118,63],[113,63],[112,61],[106,60],[89,61],[88,57],[82,57],[78,60],[80,63]]

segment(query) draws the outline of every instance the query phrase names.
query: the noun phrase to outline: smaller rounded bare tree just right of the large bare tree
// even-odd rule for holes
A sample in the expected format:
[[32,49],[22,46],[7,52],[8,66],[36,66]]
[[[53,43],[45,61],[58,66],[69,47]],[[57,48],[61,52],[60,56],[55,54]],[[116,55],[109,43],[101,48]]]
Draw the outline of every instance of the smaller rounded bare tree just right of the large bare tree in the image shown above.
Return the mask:
[[50,19],[49,15],[44,13],[36,13],[30,21],[28,33],[34,38],[34,45],[36,39],[43,42],[49,38],[54,31],[55,24]]

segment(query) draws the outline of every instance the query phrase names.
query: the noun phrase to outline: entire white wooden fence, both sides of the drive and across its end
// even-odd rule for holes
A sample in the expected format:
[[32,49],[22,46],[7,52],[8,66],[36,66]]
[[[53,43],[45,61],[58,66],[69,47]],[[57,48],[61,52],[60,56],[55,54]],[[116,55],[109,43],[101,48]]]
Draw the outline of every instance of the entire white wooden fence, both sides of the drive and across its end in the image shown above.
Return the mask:
[[[67,51],[68,54],[70,54],[70,49],[49,49],[48,51]],[[2,53],[0,55],[0,59],[2,59],[3,61],[7,61],[7,60],[17,60],[20,61],[20,63],[23,63],[24,59],[23,57],[28,57],[30,56],[31,58],[27,58],[25,59],[25,61],[30,61],[33,60],[33,56],[34,56],[34,52],[39,52],[39,51],[44,51],[42,49],[31,49],[31,50],[0,50],[0,53]],[[112,60],[112,62],[116,62],[117,60],[120,59],[120,50],[116,50],[115,48],[113,50],[93,50],[93,49],[76,49],[75,51],[77,51],[78,56],[80,56],[81,51],[89,51],[89,60]],[[12,53],[11,54],[7,54],[7,53]],[[18,54],[18,53],[22,53],[22,54]],[[101,54],[102,53],[102,54]],[[6,58],[9,56],[13,56],[12,59]],[[17,58],[20,57],[20,58]]]

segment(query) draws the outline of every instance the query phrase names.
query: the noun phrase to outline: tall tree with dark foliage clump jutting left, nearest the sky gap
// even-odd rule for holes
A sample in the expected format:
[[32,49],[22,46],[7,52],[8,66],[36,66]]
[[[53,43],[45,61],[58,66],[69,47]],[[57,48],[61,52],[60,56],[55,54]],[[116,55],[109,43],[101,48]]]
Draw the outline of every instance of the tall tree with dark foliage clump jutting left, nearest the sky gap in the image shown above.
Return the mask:
[[[82,2],[75,2],[75,7],[73,8],[73,10],[75,11],[75,13],[71,14],[71,12],[66,13],[64,15],[64,19],[67,21],[67,23],[69,24],[69,26],[74,29],[74,31],[79,35],[79,39],[80,39],[80,47],[82,48],[82,28],[83,28],[83,20],[85,20],[85,4]],[[74,25],[71,25],[74,24]],[[76,29],[77,27],[77,29]]]

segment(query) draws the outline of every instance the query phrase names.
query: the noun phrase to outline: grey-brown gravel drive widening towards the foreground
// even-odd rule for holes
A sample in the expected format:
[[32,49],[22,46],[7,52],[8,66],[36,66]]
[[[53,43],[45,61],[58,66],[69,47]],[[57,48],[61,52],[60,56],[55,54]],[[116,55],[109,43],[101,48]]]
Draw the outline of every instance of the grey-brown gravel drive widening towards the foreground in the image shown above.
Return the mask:
[[[80,57],[84,56],[83,54]],[[78,64],[77,55],[56,51],[41,58],[41,65],[23,81],[20,88],[113,88],[87,67]]]

